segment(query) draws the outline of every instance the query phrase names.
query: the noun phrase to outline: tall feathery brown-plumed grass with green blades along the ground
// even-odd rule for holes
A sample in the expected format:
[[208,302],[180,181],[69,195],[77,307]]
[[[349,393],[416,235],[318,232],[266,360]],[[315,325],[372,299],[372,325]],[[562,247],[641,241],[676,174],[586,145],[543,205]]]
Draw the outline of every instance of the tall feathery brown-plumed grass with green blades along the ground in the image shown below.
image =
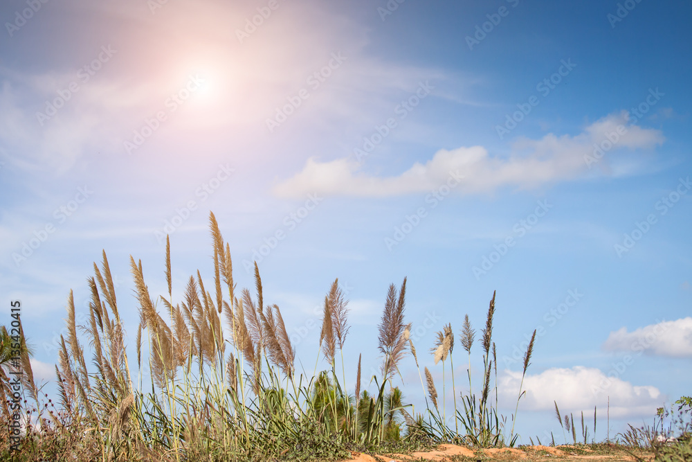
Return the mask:
[[[299,373],[282,312],[264,300],[259,268],[255,264],[253,292],[238,291],[230,246],[221,237],[213,214],[210,231],[213,281],[205,284],[197,271],[188,278],[179,301],[173,300],[168,240],[167,293],[156,299],[145,283],[141,261],[130,257],[139,317],[136,358],[127,356],[118,299],[107,256],[102,254],[101,266],[94,264],[94,276],[88,279],[91,303],[84,325],[76,324],[72,292],[68,297],[68,333],[60,339],[55,367],[60,402],[42,400],[23,332],[21,365],[7,364],[7,345],[0,339],[2,418],[8,421],[12,414],[6,371],[24,373],[25,398],[19,409],[25,426],[19,451],[11,450],[8,428],[3,426],[1,460],[307,461],[348,459],[351,451],[409,452],[438,443],[516,445],[514,424],[524,392],[521,385],[509,427],[497,408],[494,293],[480,340],[479,396],[471,389],[475,330],[468,315],[460,331],[469,368],[468,393],[459,393],[459,407],[452,362],[454,332],[451,324],[437,332],[431,353],[436,365],[441,362],[443,393],[449,359],[455,396],[452,424],[444,398],[439,410],[434,377],[427,367],[421,371],[410,338],[412,324],[405,319],[406,278],[398,288],[390,285],[385,298],[378,328],[380,373],[362,381],[359,357],[356,378],[348,381],[355,384],[351,395],[345,388],[343,356],[349,334],[348,301],[338,280],[325,295],[315,370],[312,375]],[[535,332],[525,353],[522,384],[534,339]],[[401,378],[399,366],[407,355],[419,371],[426,400],[422,412],[412,411],[393,385],[395,377]],[[327,368],[318,371],[320,358]],[[145,376],[151,377],[148,382]],[[362,389],[362,382],[374,385],[375,392]],[[570,422],[574,434],[574,418]]]

